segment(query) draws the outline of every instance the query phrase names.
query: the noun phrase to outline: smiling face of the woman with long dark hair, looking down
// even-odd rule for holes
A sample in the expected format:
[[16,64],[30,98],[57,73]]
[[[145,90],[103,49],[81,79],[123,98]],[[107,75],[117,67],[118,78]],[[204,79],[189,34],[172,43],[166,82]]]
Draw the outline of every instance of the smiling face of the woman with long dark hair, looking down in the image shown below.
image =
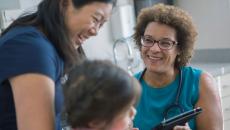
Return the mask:
[[[71,1],[69,1],[71,3]],[[111,15],[112,4],[93,2],[80,9],[68,5],[66,10],[66,23],[70,33],[70,39],[78,47],[86,39],[96,36],[99,29]]]

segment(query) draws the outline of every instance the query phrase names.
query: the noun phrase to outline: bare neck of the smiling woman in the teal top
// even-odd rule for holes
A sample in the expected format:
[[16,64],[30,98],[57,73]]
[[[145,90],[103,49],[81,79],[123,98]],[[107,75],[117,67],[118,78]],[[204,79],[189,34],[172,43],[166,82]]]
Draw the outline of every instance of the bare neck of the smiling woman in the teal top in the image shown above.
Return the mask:
[[150,86],[162,88],[170,84],[172,81],[174,81],[176,79],[177,74],[178,74],[177,69],[172,69],[171,71],[167,71],[167,72],[154,72],[154,71],[146,70],[143,79]]

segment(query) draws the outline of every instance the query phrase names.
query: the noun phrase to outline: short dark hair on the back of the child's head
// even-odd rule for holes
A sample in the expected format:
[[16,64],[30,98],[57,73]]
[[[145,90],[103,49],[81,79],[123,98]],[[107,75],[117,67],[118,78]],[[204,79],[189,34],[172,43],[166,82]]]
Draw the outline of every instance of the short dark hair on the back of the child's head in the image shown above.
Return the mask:
[[110,124],[140,96],[136,79],[109,61],[85,61],[69,74],[64,86],[65,113],[72,128],[90,122]]

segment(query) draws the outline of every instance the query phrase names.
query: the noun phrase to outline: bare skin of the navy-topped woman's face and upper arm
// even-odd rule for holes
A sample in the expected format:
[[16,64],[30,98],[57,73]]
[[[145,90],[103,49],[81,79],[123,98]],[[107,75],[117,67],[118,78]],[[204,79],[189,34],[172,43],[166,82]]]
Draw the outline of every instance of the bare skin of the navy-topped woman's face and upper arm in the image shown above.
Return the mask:
[[[76,48],[85,39],[97,35],[111,11],[112,4],[100,2],[75,9],[69,0],[65,22]],[[54,130],[54,81],[38,73],[21,74],[9,81],[14,95],[18,130]]]

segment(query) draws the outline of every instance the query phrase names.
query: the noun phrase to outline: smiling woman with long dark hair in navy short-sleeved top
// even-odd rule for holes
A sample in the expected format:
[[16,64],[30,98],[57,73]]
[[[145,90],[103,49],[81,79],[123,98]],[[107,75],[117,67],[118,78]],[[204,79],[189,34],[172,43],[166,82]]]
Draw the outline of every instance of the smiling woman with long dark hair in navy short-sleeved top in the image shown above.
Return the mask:
[[0,130],[60,130],[61,81],[116,0],[43,0],[0,37]]

